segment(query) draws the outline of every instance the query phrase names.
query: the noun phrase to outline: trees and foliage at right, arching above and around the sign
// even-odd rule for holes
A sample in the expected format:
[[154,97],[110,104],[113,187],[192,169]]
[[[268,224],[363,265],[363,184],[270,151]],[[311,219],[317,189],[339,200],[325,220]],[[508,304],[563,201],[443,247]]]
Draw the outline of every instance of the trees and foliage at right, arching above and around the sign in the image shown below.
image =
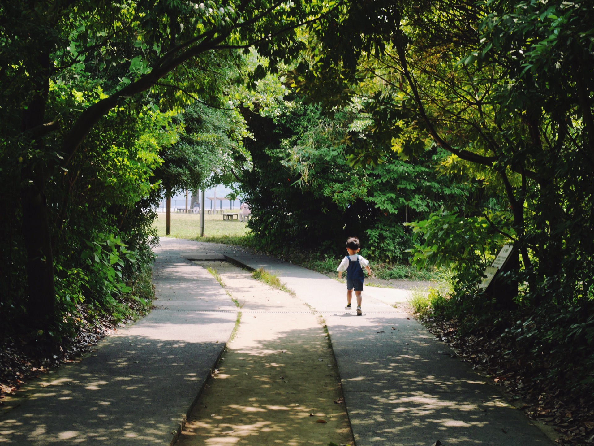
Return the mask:
[[[391,147],[353,144],[356,163],[391,151],[424,159],[440,147],[449,154],[440,171],[472,185],[457,208],[446,203],[412,223],[415,264],[453,271],[434,311],[469,330],[491,324],[495,311],[497,329],[542,374],[591,382],[592,5],[377,1],[341,12],[333,32],[312,31],[321,49],[292,73],[293,85],[328,105],[362,94],[381,103],[369,128]],[[505,277],[519,283],[513,301],[477,287],[503,243],[520,265]]]

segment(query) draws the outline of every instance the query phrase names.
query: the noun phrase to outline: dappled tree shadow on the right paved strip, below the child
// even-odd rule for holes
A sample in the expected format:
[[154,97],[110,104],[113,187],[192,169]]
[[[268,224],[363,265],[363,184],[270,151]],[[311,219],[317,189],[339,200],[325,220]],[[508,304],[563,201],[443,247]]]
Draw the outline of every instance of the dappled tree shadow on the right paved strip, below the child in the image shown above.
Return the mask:
[[361,445],[549,445],[444,344],[405,314],[331,327],[353,432]]

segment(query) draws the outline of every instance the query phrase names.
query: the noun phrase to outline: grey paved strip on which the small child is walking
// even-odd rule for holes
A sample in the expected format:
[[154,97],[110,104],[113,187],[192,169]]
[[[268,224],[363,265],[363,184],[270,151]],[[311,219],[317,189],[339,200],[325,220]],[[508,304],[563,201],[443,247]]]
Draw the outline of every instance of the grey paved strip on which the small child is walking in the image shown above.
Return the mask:
[[[551,445],[552,442],[418,322],[390,304],[403,290],[366,287],[362,317],[344,310],[345,285],[265,255],[194,243],[278,274],[326,320],[358,446]],[[189,245],[188,245],[189,247]]]

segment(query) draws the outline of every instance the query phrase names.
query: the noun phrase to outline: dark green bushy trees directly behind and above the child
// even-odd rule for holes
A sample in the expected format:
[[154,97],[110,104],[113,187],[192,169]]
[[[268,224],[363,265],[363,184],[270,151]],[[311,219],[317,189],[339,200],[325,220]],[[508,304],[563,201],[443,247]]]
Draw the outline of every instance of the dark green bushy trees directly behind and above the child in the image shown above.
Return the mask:
[[273,116],[264,108],[248,117],[253,168],[242,173],[241,188],[257,246],[342,254],[347,236],[357,235],[370,258],[402,261],[410,247],[404,224],[466,195],[465,185],[432,167],[445,156],[439,149],[414,162],[394,155],[381,165],[353,167],[348,145],[373,137],[365,131],[364,103],[331,116],[298,98],[276,107]]

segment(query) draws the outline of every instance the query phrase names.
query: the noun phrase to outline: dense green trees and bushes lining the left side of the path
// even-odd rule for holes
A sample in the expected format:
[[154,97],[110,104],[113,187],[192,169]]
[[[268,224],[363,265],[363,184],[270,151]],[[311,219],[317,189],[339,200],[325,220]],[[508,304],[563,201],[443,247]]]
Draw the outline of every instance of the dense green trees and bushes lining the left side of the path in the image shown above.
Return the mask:
[[[150,297],[135,284],[151,206],[247,160],[234,88],[276,71],[303,48],[295,29],[333,7],[2,1],[2,330],[55,346],[83,301],[117,320]],[[247,68],[254,50],[266,67]]]

